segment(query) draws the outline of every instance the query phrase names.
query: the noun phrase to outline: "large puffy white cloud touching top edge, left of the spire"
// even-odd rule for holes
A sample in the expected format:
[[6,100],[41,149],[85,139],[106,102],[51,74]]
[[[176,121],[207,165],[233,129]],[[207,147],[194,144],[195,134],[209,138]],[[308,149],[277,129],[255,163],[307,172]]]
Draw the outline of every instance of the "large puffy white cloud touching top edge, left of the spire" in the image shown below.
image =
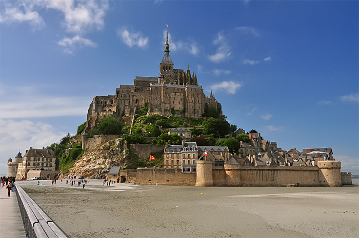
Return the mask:
[[49,0],[42,3],[45,4],[46,8],[64,13],[63,26],[67,32],[75,34],[101,30],[105,26],[104,17],[109,8],[107,0]]

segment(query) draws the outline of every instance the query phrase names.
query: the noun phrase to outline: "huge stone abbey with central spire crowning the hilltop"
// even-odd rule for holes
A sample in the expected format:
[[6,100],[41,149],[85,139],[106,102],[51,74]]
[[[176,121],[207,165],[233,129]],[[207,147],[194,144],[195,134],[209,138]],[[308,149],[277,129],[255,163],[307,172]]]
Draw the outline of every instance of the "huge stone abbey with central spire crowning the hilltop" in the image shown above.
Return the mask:
[[148,103],[148,113],[167,116],[200,118],[205,107],[214,107],[222,115],[222,106],[213,97],[204,94],[197,75],[187,67],[174,69],[168,44],[168,28],[165,54],[159,63],[158,77],[138,77],[133,85],[119,85],[115,95],[95,96],[87,113],[85,132],[96,126],[107,115],[133,116]]

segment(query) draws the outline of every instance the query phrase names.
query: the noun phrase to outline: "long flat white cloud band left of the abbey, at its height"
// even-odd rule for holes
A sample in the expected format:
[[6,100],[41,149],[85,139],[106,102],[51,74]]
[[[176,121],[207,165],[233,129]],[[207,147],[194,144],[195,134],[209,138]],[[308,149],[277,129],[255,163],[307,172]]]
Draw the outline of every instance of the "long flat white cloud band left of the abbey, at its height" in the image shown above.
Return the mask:
[[[83,116],[87,114],[91,98],[57,97],[45,94],[40,87],[19,86],[17,97],[9,97],[15,89],[1,85],[0,118],[33,118]],[[41,95],[41,96],[38,96]],[[11,98],[11,100],[10,100]]]

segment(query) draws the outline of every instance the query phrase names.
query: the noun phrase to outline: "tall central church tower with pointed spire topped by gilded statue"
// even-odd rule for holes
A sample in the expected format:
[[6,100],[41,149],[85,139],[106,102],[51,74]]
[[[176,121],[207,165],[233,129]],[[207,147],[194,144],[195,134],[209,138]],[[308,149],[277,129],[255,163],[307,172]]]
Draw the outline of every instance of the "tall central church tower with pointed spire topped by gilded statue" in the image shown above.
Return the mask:
[[165,55],[159,64],[159,83],[174,82],[173,62],[170,56],[170,46],[168,44],[168,25],[166,31]]

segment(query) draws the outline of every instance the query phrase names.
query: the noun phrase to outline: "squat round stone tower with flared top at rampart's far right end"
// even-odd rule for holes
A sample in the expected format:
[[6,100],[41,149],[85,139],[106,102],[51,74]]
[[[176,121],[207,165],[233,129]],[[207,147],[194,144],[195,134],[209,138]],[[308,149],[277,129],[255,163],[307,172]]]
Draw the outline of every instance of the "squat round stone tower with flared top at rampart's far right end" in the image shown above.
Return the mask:
[[342,187],[340,161],[325,160],[317,162],[319,171],[319,181],[322,186]]

